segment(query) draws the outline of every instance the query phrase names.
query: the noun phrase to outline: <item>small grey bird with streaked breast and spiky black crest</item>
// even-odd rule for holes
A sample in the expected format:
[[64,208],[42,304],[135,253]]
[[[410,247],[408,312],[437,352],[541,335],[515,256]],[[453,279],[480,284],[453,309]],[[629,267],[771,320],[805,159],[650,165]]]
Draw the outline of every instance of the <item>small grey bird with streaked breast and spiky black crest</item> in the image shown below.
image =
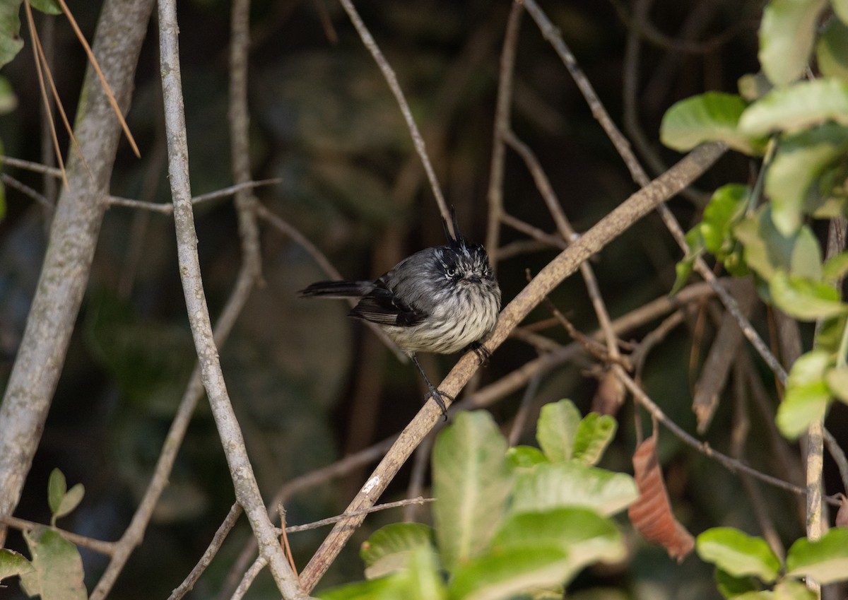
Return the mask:
[[444,397],[453,398],[430,383],[416,353],[470,349],[483,364],[489,353],[480,342],[500,312],[500,288],[486,249],[460,234],[453,210],[451,218],[454,236],[443,219],[446,245],[404,258],[375,281],[319,281],[298,292],[301,297],[359,298],[349,316],[376,323],[412,358],[445,419]]

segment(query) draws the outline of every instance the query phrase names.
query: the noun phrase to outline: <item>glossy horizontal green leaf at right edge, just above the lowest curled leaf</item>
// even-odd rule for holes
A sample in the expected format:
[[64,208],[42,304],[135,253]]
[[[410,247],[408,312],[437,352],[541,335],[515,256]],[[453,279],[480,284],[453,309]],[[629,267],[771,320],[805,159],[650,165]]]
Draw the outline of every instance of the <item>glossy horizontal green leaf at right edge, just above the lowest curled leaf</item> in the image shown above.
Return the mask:
[[840,302],[840,292],[834,286],[786,275],[782,270],[772,276],[768,291],[774,305],[795,319],[814,321],[848,313],[848,304]]

